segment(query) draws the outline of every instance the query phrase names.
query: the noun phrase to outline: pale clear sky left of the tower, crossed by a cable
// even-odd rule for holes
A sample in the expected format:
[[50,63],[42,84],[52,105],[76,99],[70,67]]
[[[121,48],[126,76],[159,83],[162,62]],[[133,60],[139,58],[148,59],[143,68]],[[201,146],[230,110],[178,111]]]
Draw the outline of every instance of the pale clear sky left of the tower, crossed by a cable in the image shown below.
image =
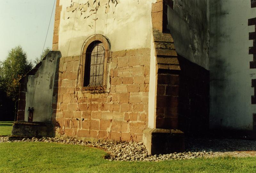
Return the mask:
[[[34,60],[42,53],[54,0],[0,1],[0,61],[17,45]],[[55,4],[45,47],[52,48],[54,15]]]

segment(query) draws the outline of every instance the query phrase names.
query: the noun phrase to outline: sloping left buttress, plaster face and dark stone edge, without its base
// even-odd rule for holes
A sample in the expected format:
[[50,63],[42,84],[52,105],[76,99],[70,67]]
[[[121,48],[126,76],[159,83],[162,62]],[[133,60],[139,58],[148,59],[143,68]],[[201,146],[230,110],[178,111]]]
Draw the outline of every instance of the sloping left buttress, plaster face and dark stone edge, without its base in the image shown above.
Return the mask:
[[33,107],[32,122],[51,122],[53,83],[60,57],[59,51],[50,51],[20,79],[18,121],[28,121],[28,109]]

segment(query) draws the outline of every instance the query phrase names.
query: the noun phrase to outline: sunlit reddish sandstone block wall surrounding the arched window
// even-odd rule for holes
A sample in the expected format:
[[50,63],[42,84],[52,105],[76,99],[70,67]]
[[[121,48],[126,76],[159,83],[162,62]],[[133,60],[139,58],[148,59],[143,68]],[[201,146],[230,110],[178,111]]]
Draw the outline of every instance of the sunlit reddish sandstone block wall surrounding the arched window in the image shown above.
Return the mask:
[[56,135],[142,141],[148,126],[150,49],[112,52],[109,90],[82,91],[80,56],[60,58],[53,103]]

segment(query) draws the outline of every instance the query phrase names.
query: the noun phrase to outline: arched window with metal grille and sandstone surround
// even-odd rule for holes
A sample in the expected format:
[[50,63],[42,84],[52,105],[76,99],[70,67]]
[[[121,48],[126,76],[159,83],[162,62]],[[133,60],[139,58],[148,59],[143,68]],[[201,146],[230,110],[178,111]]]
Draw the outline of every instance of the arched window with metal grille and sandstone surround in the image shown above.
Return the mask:
[[105,89],[107,81],[108,41],[100,34],[92,36],[83,49],[83,89]]

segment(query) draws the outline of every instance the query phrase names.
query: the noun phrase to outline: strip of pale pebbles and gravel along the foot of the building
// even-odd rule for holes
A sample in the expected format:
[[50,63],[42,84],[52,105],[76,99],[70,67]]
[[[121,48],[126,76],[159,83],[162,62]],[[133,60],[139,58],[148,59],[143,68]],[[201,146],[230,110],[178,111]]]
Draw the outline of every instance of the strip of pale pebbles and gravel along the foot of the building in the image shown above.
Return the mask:
[[109,161],[154,161],[184,160],[194,158],[210,158],[219,156],[248,157],[256,156],[256,141],[236,139],[186,139],[187,151],[183,153],[149,155],[142,142],[103,142],[94,143],[77,139],[32,138],[9,141],[8,137],[0,137],[4,142],[57,142],[87,147],[97,147],[106,150]]

